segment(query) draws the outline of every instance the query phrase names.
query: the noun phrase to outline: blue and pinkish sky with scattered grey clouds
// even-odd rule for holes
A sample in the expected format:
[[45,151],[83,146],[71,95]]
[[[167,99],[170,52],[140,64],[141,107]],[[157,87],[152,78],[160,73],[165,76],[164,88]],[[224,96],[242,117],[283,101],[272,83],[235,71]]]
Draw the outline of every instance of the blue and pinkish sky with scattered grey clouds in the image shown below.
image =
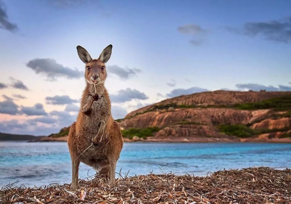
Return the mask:
[[291,90],[291,1],[0,0],[0,132],[77,116],[85,65],[113,45],[113,118],[182,94]]

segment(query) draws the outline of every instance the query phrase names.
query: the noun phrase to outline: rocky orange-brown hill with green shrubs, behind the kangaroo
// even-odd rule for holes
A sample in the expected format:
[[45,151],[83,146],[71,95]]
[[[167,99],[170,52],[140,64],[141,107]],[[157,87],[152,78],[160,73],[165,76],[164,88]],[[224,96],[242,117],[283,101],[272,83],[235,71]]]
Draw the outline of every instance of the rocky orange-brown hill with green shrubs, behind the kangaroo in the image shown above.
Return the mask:
[[[291,142],[291,92],[214,91],[166,99],[117,120],[125,141]],[[69,127],[41,141],[66,141]]]

